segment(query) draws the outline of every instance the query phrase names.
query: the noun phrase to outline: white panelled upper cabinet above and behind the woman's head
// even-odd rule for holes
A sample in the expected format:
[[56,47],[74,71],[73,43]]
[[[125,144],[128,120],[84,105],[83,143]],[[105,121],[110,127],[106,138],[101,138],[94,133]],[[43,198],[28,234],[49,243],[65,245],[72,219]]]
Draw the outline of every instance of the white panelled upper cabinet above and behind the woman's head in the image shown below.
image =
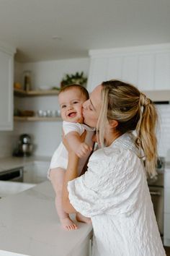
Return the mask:
[[111,79],[130,82],[143,91],[170,90],[169,43],[91,50],[89,55],[89,91]]

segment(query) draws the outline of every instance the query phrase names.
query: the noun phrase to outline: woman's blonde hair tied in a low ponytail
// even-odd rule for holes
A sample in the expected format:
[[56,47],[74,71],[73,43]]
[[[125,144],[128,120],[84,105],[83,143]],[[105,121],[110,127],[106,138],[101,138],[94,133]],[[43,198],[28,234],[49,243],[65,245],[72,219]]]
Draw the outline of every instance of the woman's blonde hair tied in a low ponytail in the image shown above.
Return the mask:
[[135,86],[120,80],[102,82],[102,108],[97,130],[99,141],[104,145],[104,130],[108,121],[117,120],[115,128],[120,135],[136,132],[135,144],[145,157],[146,172],[156,174],[158,115],[152,101]]

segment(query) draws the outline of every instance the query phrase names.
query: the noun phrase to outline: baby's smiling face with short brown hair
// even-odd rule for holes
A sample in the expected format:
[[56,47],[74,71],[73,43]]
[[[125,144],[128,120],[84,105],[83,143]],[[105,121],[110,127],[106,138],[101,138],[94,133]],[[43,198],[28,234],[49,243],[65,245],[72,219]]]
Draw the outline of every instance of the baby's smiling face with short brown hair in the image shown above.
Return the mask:
[[63,121],[72,123],[83,123],[82,104],[86,97],[78,88],[68,89],[58,95]]

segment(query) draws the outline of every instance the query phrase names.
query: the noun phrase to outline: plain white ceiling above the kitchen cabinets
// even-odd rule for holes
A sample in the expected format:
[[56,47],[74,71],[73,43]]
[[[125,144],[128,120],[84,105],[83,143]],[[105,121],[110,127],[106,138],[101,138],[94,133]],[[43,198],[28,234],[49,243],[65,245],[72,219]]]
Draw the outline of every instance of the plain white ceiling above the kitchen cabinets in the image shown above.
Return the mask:
[[0,40],[20,62],[169,43],[170,0],[0,0]]

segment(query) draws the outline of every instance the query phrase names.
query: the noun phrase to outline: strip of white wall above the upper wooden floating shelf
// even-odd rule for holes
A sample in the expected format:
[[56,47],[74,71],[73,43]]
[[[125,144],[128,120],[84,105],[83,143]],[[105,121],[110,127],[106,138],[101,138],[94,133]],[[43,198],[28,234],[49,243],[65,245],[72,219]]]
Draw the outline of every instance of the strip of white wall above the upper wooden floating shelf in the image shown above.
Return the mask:
[[22,72],[24,70],[32,71],[33,88],[51,88],[60,86],[64,74],[84,71],[84,74],[87,75],[89,73],[89,58],[19,64],[15,71],[16,82],[22,82]]

